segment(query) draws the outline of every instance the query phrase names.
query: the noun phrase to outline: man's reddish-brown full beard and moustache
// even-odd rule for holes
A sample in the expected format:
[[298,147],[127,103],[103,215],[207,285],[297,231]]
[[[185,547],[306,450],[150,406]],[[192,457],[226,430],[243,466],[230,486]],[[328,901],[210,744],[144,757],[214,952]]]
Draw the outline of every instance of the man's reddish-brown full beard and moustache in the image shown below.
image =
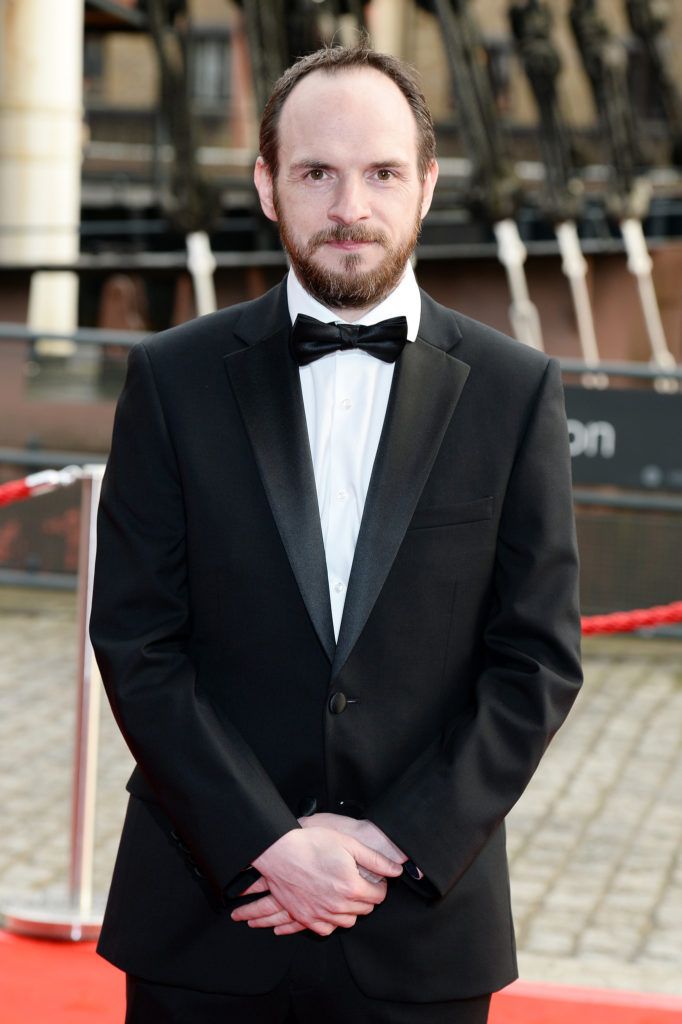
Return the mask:
[[[412,256],[422,226],[421,210],[413,224],[410,237],[398,246],[391,246],[383,231],[373,230],[364,224],[344,227],[337,224],[317,231],[304,245],[292,238],[282,207],[275,197],[282,245],[285,247],[296,276],[310,295],[330,309],[361,309],[376,306],[389,295],[400,281]],[[329,242],[374,242],[384,249],[384,257],[374,270],[364,271],[363,254],[346,253],[341,269],[333,270],[315,261],[317,250]]]

